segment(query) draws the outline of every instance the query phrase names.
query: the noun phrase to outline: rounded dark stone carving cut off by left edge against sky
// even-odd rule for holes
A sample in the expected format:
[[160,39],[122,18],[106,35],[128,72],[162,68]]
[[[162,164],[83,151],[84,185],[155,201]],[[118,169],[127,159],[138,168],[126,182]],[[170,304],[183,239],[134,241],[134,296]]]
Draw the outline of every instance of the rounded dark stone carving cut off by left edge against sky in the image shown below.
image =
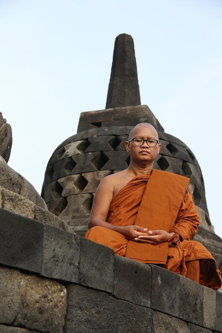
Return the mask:
[[12,128],[0,112],[0,155],[8,162],[12,148]]

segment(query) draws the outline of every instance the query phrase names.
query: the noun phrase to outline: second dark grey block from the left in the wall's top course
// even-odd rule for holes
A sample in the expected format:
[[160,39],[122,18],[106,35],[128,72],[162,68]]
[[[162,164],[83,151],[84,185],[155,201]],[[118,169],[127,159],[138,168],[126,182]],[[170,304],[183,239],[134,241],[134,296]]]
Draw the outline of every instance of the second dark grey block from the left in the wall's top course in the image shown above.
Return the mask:
[[78,283],[79,260],[79,236],[45,224],[41,275]]

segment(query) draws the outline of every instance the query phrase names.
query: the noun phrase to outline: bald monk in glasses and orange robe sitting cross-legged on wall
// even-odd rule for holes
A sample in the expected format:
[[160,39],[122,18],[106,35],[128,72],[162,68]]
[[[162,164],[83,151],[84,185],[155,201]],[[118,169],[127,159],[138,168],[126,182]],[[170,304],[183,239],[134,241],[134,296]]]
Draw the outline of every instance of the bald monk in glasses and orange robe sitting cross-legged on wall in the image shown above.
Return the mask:
[[220,288],[215,259],[191,240],[199,215],[188,189],[189,178],[153,169],[161,144],[148,123],[132,129],[125,148],[130,165],[101,181],[85,237],[113,248],[115,254]]

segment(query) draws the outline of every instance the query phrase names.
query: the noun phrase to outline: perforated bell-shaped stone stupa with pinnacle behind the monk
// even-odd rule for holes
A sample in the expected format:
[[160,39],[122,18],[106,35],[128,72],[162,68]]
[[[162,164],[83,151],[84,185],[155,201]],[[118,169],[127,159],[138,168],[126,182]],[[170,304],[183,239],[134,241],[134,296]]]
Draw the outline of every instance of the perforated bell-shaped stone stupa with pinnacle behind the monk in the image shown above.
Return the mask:
[[189,147],[165,133],[148,106],[140,105],[129,35],[121,34],[115,40],[106,109],[81,113],[77,134],[65,140],[49,160],[42,187],[49,211],[83,235],[97,186],[106,175],[128,167],[124,142],[140,122],[152,124],[159,134],[162,147],[154,168],[190,178],[189,189],[201,220],[195,239],[211,251],[222,269],[222,240],[210,221],[200,166]]

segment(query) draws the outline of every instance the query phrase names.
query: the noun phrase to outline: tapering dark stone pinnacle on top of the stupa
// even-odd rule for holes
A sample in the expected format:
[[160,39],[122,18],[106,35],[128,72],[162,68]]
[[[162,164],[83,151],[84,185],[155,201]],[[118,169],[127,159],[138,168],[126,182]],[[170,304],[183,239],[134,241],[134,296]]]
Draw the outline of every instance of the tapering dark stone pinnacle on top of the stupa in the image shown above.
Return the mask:
[[115,39],[106,109],[140,104],[133,39],[121,34]]

